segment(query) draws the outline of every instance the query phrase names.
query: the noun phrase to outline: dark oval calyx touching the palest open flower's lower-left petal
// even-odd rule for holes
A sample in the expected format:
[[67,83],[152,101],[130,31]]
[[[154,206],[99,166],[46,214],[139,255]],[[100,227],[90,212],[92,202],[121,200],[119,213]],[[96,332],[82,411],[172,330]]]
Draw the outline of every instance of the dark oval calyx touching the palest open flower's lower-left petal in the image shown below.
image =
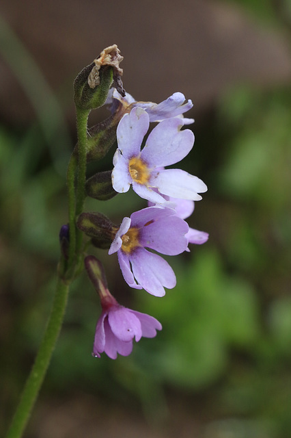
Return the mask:
[[106,172],[96,173],[96,175],[87,179],[85,184],[87,196],[98,199],[98,201],[108,201],[108,199],[117,195],[112,187],[111,173],[112,170],[107,170]]

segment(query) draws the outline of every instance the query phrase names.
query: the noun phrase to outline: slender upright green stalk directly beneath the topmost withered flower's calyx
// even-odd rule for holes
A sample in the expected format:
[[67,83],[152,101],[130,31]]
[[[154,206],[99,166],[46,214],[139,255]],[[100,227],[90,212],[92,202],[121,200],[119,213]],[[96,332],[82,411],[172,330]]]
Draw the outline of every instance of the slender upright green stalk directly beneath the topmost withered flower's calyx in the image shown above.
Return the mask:
[[[85,201],[85,181],[87,164],[87,121],[90,110],[83,110],[76,107],[77,132],[78,132],[78,173],[77,173],[77,194],[76,194],[76,218],[83,211]],[[81,250],[83,234],[76,229],[76,252]]]

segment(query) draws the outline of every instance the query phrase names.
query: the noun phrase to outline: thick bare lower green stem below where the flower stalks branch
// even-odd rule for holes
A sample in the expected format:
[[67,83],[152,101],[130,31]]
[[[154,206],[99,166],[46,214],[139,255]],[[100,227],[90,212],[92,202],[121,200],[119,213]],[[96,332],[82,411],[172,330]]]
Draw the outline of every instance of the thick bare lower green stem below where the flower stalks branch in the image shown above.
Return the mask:
[[20,438],[23,435],[23,431],[25,430],[25,426],[27,425],[31,415],[36,398],[38,397],[38,392],[40,391],[40,387],[44,381],[44,376],[51,360],[51,355],[53,354],[55,343],[57,342],[57,337],[59,336],[59,331],[61,330],[61,323],[64,319],[64,313],[68,300],[68,291],[69,285],[63,283],[63,281],[59,279],[57,282],[53,308],[46,326],[46,331],[44,333],[44,337],[42,338],[42,343],[40,344],[36,361],[33,365],[31,373],[29,374],[29,377],[27,378],[27,382],[25,384],[25,388],[23,389],[20,403],[18,404],[18,408],[12,420],[10,430],[8,431],[7,438]]

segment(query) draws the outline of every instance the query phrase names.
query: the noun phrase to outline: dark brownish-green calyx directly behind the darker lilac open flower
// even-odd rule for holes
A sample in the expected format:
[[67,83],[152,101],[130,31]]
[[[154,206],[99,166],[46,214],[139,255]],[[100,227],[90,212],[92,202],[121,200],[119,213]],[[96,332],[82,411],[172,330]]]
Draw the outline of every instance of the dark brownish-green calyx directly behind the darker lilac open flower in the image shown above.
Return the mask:
[[77,218],[77,227],[100,244],[111,244],[117,231],[113,222],[102,213],[81,213]]

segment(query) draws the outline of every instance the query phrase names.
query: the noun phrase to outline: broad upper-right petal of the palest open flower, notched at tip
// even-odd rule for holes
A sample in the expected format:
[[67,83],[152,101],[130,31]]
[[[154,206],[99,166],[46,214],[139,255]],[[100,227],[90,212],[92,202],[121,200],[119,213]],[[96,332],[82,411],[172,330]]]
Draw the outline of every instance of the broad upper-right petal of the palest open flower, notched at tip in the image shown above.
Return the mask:
[[158,123],[148,136],[141,159],[153,168],[180,162],[194,144],[193,132],[190,129],[180,131],[181,127],[180,118],[169,118]]

